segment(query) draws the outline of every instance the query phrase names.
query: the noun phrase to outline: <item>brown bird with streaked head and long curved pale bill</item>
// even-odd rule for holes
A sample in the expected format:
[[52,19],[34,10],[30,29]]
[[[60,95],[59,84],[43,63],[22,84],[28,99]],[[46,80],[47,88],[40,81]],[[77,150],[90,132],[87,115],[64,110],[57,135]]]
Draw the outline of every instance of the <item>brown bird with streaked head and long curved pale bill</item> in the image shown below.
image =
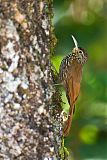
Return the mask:
[[75,47],[71,50],[70,54],[63,58],[59,67],[59,78],[70,105],[68,119],[63,130],[64,137],[68,136],[70,132],[75,103],[80,92],[83,66],[88,59],[87,52],[78,46],[78,42],[73,35],[72,39]]

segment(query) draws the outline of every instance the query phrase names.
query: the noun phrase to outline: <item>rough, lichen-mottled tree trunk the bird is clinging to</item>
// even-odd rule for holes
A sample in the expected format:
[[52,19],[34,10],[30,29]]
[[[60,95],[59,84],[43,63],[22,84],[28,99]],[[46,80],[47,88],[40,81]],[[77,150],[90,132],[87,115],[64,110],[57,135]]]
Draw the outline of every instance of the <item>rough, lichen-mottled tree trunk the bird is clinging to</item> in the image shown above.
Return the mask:
[[51,0],[0,0],[0,160],[61,159]]

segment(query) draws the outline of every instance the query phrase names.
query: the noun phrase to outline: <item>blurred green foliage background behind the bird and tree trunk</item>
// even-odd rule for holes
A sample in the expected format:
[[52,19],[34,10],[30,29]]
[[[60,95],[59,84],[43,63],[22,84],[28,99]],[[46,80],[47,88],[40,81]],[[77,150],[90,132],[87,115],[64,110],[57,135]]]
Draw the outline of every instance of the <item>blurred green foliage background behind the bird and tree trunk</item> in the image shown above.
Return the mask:
[[54,0],[54,25],[57,70],[74,47],[71,34],[88,53],[71,132],[65,139],[69,159],[107,160],[107,0]]

